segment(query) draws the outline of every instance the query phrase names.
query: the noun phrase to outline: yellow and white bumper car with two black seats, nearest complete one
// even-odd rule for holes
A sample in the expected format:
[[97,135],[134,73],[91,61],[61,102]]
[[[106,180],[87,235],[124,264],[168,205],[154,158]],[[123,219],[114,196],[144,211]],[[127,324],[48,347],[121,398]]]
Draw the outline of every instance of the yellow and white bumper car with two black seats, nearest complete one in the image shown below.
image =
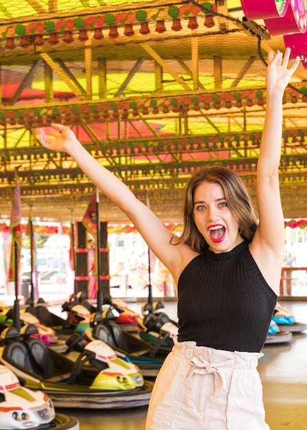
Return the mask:
[[14,326],[1,332],[0,362],[23,378],[25,387],[47,394],[56,407],[109,409],[148,405],[153,383],[139,367],[117,357],[100,340],[76,357],[65,357],[32,337],[27,326],[21,339]]

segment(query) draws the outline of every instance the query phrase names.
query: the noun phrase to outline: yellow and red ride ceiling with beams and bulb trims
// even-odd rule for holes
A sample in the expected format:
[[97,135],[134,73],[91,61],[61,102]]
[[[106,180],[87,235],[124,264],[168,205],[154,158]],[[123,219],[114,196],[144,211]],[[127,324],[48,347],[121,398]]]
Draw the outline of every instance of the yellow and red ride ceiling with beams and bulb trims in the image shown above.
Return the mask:
[[[165,221],[180,220],[188,177],[218,163],[255,196],[266,54],[302,64],[284,93],[280,188],[306,217],[306,1],[0,2],[0,211],[18,168],[23,216],[82,218],[92,183],[37,129],[71,126],[93,157]],[[307,39],[306,39],[307,40]],[[100,217],[126,222],[101,196]]]

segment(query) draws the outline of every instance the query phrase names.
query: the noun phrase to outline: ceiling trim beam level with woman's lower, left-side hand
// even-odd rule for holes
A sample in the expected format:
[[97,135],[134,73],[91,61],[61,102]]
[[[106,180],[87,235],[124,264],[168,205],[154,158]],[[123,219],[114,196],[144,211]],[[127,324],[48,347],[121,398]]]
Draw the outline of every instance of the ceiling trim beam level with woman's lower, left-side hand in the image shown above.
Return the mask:
[[[307,128],[288,129],[283,131],[283,145],[282,152],[286,154],[288,151],[291,153],[293,160],[295,155],[304,155],[307,153],[304,143],[307,137]],[[213,135],[188,135],[188,136],[161,136],[141,139],[126,139],[126,140],[108,140],[106,142],[84,142],[83,146],[86,148],[93,157],[105,159],[119,159],[119,157],[149,157],[150,155],[176,155],[177,157],[185,154],[193,154],[202,152],[212,152],[214,158],[228,157],[230,153],[234,152],[236,158],[240,158],[240,150],[254,151],[260,147],[261,131],[249,132],[236,132],[236,133],[216,133]],[[27,141],[25,141],[27,142]],[[0,147],[0,161],[1,170],[5,168],[5,174],[9,173],[8,166],[10,163],[23,163],[32,162],[32,168],[35,166],[35,160],[43,159],[45,163],[58,159],[57,152],[51,150],[46,151],[43,146],[16,146],[14,148],[1,148]],[[301,152],[299,152],[299,150]],[[209,157],[208,157],[209,158]],[[60,159],[67,161],[69,156],[61,154]],[[131,162],[132,163],[132,162]],[[130,163],[130,164],[131,164]],[[155,161],[152,161],[155,163]],[[149,166],[150,161],[146,159],[146,164]],[[117,163],[118,165],[118,163]],[[135,166],[138,166],[136,164]],[[13,174],[12,169],[12,174]]]

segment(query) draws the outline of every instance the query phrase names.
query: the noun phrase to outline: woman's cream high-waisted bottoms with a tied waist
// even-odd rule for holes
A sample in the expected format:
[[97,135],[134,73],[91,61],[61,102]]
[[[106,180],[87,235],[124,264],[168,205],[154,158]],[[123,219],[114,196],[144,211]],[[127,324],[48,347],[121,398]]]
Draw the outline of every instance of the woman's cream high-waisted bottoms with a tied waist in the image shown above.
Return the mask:
[[268,430],[258,352],[174,342],[157,376],[146,430]]

